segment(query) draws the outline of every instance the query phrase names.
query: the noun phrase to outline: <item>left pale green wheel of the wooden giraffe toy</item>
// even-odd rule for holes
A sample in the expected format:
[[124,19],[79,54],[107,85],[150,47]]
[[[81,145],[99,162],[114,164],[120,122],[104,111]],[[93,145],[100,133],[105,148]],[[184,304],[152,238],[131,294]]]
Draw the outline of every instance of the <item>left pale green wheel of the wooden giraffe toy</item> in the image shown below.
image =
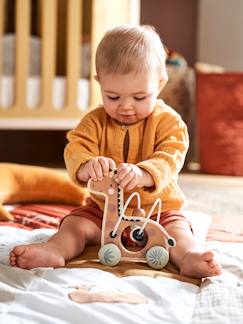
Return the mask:
[[114,267],[121,260],[121,251],[113,243],[105,244],[99,249],[98,257],[102,264]]

